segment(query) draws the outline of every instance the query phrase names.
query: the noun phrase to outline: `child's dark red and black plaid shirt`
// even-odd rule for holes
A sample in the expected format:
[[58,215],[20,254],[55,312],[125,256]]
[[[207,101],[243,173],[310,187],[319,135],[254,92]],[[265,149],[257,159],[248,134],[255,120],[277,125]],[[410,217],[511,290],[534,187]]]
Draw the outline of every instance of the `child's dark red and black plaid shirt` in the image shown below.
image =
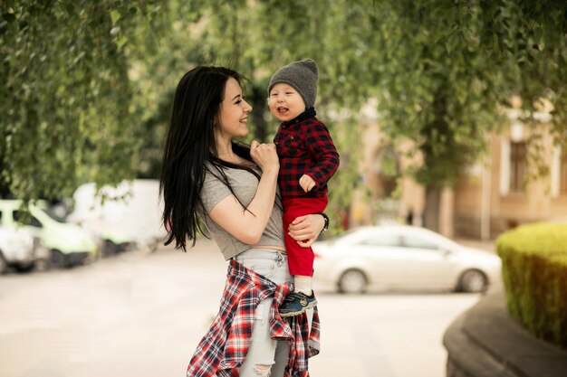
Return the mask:
[[[274,143],[280,157],[278,184],[282,198],[325,196],[327,182],[339,168],[340,160],[329,130],[315,118],[315,109],[309,108],[299,117],[283,122]],[[299,185],[303,174],[316,183],[309,193]]]

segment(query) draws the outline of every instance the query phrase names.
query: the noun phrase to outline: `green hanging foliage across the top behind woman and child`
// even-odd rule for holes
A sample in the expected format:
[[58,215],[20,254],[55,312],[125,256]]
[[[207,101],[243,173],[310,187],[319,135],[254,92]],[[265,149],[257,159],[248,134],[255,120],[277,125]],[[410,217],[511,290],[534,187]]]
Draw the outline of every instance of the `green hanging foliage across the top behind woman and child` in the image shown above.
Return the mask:
[[551,104],[565,144],[566,12],[560,0],[8,0],[0,193],[64,196],[87,180],[156,177],[173,91],[196,64],[249,78],[252,137],[269,141],[267,82],[307,57],[342,156],[332,208],[360,184],[356,114],[370,99],[387,144],[415,142],[418,181],[450,186],[485,151],[486,132],[505,125],[513,95],[528,120]]

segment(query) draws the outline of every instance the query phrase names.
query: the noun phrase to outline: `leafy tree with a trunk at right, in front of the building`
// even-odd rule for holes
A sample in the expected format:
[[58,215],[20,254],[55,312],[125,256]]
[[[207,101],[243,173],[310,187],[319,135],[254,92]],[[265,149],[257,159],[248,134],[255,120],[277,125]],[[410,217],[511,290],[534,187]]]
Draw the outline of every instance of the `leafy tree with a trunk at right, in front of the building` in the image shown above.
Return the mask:
[[[427,187],[426,225],[437,229],[440,189],[452,187],[483,153],[487,131],[505,125],[513,95],[523,99],[528,118],[543,99],[552,103],[552,132],[566,145],[567,5],[402,1],[391,2],[389,14],[392,30],[379,37],[392,54],[379,94],[382,127],[390,137],[417,143],[423,165],[415,176]],[[532,156],[543,172],[537,140]]]

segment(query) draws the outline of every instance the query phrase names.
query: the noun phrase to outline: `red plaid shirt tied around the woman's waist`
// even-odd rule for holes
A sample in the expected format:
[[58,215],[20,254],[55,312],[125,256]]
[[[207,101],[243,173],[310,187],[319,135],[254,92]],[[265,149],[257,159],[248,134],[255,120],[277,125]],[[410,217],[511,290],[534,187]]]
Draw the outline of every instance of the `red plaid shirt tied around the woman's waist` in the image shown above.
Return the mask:
[[274,297],[271,336],[290,344],[284,377],[309,377],[307,359],[319,353],[319,315],[315,307],[311,332],[306,314],[283,320],[278,307],[289,291],[289,284],[278,286],[231,259],[220,310],[191,358],[187,377],[238,377],[250,346],[255,308],[267,297]]

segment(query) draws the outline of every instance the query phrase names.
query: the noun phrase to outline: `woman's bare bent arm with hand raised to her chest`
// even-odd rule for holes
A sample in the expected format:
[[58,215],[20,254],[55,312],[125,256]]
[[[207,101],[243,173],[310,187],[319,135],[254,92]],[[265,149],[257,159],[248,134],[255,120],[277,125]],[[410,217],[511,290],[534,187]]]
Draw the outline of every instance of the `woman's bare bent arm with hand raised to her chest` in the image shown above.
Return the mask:
[[254,245],[262,237],[274,209],[280,165],[273,144],[258,144],[253,141],[250,156],[262,169],[262,177],[252,202],[245,209],[234,195],[229,195],[216,203],[209,215],[236,239]]

